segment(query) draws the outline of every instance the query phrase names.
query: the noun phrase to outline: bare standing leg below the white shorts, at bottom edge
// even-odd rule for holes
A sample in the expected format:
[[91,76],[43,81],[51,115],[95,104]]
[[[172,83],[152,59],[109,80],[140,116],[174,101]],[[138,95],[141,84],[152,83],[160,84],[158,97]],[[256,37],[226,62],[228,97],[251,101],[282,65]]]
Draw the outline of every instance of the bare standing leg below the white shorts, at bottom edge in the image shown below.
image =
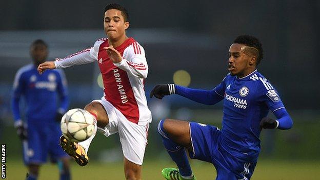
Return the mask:
[[141,179],[141,165],[134,164],[124,158],[125,164],[125,176],[127,180],[139,180]]

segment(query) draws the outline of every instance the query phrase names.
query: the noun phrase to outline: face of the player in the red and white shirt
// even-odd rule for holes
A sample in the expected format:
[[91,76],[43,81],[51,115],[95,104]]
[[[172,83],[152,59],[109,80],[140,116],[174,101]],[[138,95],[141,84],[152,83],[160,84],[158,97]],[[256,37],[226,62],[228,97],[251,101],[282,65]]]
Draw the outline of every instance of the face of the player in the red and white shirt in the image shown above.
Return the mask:
[[121,11],[117,9],[109,9],[105,12],[104,28],[105,33],[111,40],[117,40],[126,35],[126,29],[129,22],[125,22]]

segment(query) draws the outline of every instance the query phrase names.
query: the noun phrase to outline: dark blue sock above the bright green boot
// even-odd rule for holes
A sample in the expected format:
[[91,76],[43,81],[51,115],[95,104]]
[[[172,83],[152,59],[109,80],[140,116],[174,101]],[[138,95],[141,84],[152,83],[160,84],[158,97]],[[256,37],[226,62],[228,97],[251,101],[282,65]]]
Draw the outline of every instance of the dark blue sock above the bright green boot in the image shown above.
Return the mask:
[[158,124],[158,132],[161,135],[162,142],[167,149],[172,160],[179,168],[179,173],[182,176],[190,176],[192,174],[189,160],[184,147],[179,146],[174,143],[163,127],[164,119],[162,119]]

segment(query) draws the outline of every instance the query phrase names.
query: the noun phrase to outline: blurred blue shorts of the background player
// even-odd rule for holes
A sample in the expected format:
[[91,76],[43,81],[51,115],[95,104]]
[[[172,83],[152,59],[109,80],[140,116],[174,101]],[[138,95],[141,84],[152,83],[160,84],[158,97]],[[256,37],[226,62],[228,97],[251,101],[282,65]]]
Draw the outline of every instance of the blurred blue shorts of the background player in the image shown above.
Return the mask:
[[68,157],[59,146],[59,137],[62,135],[58,123],[51,124],[28,124],[28,139],[23,141],[24,163],[41,165],[47,162],[50,155],[52,162],[59,158]]

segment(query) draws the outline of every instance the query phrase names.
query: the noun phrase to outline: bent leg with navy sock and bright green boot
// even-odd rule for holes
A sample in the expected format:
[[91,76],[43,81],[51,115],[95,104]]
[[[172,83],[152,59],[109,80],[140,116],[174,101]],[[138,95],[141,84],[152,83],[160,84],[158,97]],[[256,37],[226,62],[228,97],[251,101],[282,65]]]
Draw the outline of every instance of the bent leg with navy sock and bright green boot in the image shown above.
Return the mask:
[[164,146],[169,155],[178,166],[178,169],[163,169],[163,176],[166,179],[196,179],[192,174],[188,157],[184,150],[186,148],[189,152],[193,152],[189,122],[164,119],[159,122],[158,131],[162,135]]

